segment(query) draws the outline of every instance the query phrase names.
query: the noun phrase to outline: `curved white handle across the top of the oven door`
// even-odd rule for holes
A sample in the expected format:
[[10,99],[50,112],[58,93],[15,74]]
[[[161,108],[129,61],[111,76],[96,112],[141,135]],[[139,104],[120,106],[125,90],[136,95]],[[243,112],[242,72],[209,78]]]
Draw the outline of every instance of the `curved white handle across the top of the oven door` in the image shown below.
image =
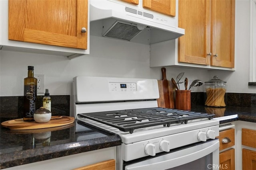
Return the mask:
[[125,170],[166,170],[192,162],[210,153],[213,154],[213,161],[209,166],[210,168],[214,169],[214,167],[216,167],[218,169],[219,146],[219,140],[215,139],[200,145],[195,145],[175,152],[170,152],[162,156],[127,165],[125,166]]

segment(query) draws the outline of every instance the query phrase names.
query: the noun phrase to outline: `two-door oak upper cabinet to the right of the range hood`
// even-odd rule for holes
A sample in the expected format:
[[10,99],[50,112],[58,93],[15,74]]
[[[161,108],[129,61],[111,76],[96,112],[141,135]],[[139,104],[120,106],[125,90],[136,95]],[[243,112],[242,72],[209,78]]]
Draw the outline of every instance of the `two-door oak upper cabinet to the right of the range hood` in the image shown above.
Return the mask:
[[234,68],[235,0],[179,0],[178,62]]

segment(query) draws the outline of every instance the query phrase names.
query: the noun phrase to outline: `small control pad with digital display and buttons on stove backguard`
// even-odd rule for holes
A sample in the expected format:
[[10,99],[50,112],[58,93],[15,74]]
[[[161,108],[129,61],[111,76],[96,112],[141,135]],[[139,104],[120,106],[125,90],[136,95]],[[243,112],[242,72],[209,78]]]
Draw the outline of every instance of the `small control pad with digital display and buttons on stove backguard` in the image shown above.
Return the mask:
[[136,83],[109,82],[110,92],[136,92]]

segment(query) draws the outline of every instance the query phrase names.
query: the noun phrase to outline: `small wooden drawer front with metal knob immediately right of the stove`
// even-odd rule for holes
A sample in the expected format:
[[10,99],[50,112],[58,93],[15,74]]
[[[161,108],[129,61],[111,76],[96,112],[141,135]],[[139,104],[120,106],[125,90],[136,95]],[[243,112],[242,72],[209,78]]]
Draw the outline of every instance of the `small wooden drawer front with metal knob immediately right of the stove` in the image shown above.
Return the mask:
[[[219,138],[220,141],[220,150],[232,147],[235,145],[235,129],[222,131],[217,138]],[[225,139],[230,139],[230,142],[224,143]]]

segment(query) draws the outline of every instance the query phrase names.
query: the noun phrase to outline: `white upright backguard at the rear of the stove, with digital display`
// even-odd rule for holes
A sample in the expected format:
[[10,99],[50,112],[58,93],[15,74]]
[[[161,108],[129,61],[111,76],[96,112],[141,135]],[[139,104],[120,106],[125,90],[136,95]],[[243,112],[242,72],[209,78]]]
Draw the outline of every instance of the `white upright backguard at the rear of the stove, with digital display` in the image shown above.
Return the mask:
[[76,76],[73,78],[73,93],[73,103],[76,104],[159,98],[157,80],[146,78]]

